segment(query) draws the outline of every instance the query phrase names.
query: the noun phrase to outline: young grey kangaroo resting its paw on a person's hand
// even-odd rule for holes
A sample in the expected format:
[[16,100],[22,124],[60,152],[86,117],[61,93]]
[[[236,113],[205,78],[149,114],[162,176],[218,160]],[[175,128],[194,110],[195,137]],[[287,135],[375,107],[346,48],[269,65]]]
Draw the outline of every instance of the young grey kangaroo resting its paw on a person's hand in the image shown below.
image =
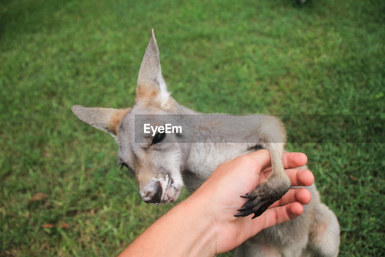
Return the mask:
[[[184,185],[192,192],[222,162],[259,149],[269,150],[272,173],[241,196],[248,201],[239,213],[234,210],[234,216],[255,218],[290,189],[282,164],[286,132],[281,121],[271,115],[204,115],[177,103],[161,74],[153,29],[139,69],[135,102],[125,109],[74,105],[72,111],[115,137],[118,163],[134,173],[146,203],[175,201]],[[180,133],[167,133],[167,124],[179,125]],[[145,133],[146,125],[153,133]],[[238,246],[235,256],[337,256],[338,220],[321,203],[316,186],[307,188],[312,200],[302,215],[262,230]]]

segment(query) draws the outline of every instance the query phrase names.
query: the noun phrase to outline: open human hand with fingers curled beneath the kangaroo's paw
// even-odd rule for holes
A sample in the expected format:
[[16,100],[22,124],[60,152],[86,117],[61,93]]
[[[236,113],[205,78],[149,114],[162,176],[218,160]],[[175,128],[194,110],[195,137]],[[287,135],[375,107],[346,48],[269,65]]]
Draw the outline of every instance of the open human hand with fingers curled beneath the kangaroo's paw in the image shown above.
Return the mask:
[[[199,203],[198,210],[216,225],[216,253],[233,249],[264,228],[296,218],[303,212],[303,204],[310,202],[311,194],[307,189],[291,188],[254,220],[252,216],[234,217],[247,201],[240,196],[252,191],[271,174],[270,161],[269,151],[259,150],[224,162],[191,195],[192,200],[205,199]],[[283,154],[283,165],[292,186],[310,186],[313,183],[314,176],[310,171],[295,168],[306,162],[305,154]]]

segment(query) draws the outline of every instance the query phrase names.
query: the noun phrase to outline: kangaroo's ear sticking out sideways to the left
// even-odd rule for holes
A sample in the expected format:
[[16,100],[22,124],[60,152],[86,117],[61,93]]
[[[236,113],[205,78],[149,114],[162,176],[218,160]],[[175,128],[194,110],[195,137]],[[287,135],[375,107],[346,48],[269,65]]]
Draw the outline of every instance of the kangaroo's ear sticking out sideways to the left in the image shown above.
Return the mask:
[[71,110],[80,120],[91,125],[92,127],[104,130],[115,137],[119,122],[123,116],[131,110],[131,108],[113,109],[74,105]]

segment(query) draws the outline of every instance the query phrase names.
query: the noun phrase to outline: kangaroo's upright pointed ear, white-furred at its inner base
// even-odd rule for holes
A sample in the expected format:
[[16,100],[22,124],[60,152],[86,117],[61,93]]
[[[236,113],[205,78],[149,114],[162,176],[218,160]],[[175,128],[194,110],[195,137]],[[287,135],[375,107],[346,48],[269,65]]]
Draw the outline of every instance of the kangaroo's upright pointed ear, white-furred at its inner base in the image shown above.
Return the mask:
[[163,107],[169,100],[170,93],[162,77],[159,49],[151,29],[150,41],[144,53],[141,68],[139,69],[136,86],[136,102],[146,101]]

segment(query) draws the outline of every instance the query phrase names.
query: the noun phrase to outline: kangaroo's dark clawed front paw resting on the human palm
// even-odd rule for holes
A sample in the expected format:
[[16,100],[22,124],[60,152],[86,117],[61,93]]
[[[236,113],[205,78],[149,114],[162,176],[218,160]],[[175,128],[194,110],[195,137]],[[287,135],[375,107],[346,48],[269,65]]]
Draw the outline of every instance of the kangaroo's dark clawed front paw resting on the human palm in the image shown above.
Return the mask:
[[[269,181],[271,182],[271,181]],[[273,183],[268,181],[259,184],[251,193],[247,193],[243,198],[249,199],[241,209],[240,213],[234,215],[236,217],[246,217],[254,213],[253,218],[260,216],[270,205],[280,200],[284,194],[290,189],[290,185],[271,186]],[[253,219],[252,218],[252,219]]]

